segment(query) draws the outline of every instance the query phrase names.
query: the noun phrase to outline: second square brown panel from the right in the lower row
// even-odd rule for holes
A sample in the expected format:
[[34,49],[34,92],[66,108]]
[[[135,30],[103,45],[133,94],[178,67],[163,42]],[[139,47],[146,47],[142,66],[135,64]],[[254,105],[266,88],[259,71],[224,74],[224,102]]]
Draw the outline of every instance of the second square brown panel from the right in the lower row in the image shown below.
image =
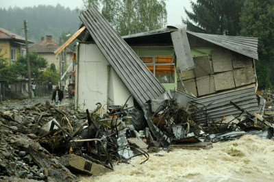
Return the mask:
[[213,77],[216,91],[235,88],[232,71],[218,73],[215,74]]

